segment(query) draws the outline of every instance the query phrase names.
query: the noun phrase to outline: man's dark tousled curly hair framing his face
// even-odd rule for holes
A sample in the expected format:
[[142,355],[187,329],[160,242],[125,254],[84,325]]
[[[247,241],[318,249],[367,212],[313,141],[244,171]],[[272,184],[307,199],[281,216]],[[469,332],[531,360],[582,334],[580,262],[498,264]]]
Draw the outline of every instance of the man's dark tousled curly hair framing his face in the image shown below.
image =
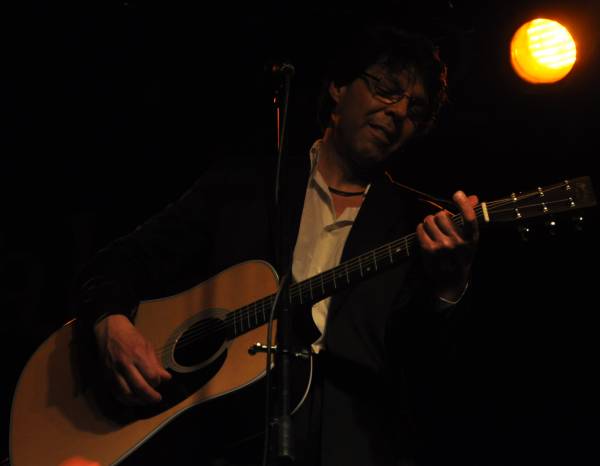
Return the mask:
[[321,129],[330,125],[335,108],[329,84],[347,85],[369,66],[381,64],[393,72],[414,69],[422,77],[431,107],[430,117],[418,128],[418,133],[427,133],[448,100],[446,65],[437,47],[425,36],[387,25],[370,24],[345,35],[348,37],[341,42],[343,47],[338,47],[337,54],[327,64],[317,110]]

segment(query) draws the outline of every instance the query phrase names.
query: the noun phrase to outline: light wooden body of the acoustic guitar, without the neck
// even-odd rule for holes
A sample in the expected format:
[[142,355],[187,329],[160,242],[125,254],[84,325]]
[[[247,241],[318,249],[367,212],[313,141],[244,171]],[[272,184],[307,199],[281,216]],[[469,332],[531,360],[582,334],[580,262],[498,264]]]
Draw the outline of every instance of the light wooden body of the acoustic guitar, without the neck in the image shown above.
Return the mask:
[[[174,376],[163,402],[153,408],[118,406],[109,396],[98,395],[106,388],[95,379],[82,380],[75,325],[66,324],[38,348],[18,381],[11,413],[11,464],[57,466],[74,457],[117,464],[182,412],[259,380],[266,356],[252,356],[248,349],[266,343],[266,325],[229,340],[211,337],[208,348],[202,347],[202,330],[211,325],[218,330],[228,311],[276,291],[273,268],[249,261],[181,294],[141,303],[135,325]],[[178,355],[177,342],[195,335],[200,335],[200,346]],[[87,365],[99,372],[98,361]]]

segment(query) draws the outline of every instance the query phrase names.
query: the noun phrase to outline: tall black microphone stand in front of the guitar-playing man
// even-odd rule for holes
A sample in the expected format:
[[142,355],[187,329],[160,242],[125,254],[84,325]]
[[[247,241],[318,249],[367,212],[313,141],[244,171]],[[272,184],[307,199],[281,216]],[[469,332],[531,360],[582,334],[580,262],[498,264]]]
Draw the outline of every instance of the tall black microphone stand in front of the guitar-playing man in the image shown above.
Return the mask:
[[[279,99],[280,92],[276,91],[275,106],[277,120],[277,170],[275,174],[275,218],[279,229],[279,237],[276,240],[276,254],[279,264],[284,264],[285,228],[284,216],[280,202],[280,174],[282,165],[283,147],[285,142],[285,130],[287,121],[287,108],[291,87],[291,78],[294,74],[294,67],[289,63],[274,65],[272,72],[277,77],[283,77],[283,103]],[[269,451],[270,429],[273,428],[275,446],[270,451],[274,456],[274,462],[277,465],[293,464],[295,460],[293,431],[291,422],[291,358],[293,356],[291,335],[292,319],[290,315],[288,287],[292,275],[293,255],[289,256],[289,264],[285,264],[287,271],[281,277],[279,290],[275,296],[271,319],[269,321],[268,342],[267,342],[267,417],[268,424],[265,430],[265,456],[263,464],[267,464],[267,455]],[[275,366],[277,367],[277,390],[275,390],[275,409],[271,415],[269,411],[270,378],[269,371],[271,366],[271,324],[273,316],[277,314],[277,346],[275,349]]]

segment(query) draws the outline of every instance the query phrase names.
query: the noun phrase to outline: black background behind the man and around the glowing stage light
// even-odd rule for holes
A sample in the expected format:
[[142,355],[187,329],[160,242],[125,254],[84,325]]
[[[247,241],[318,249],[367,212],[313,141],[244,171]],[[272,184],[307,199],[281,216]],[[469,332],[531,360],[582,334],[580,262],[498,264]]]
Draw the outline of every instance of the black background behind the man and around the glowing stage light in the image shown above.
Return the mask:
[[[600,2],[49,2],[0,11],[2,456],[29,355],[71,316],[75,271],[230,153],[272,154],[264,65],[296,67],[289,149],[319,135],[315,96],[329,26],[353,15],[424,24],[450,65],[451,104],[398,180],[484,200],[594,168],[600,131]],[[570,27],[578,61],[560,83],[517,78],[508,45],[534,17]],[[473,312],[437,417],[436,448],[462,464],[600,464],[596,382],[598,214],[522,242],[483,235]]]

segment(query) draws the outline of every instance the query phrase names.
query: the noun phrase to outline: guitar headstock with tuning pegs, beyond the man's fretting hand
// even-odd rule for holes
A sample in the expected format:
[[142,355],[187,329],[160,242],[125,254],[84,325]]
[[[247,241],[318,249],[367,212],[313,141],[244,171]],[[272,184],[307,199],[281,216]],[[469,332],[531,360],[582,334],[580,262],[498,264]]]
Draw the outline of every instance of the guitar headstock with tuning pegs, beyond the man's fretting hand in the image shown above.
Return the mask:
[[596,205],[596,196],[589,176],[526,193],[513,193],[510,197],[481,203],[486,222],[517,222],[534,217],[551,216]]

